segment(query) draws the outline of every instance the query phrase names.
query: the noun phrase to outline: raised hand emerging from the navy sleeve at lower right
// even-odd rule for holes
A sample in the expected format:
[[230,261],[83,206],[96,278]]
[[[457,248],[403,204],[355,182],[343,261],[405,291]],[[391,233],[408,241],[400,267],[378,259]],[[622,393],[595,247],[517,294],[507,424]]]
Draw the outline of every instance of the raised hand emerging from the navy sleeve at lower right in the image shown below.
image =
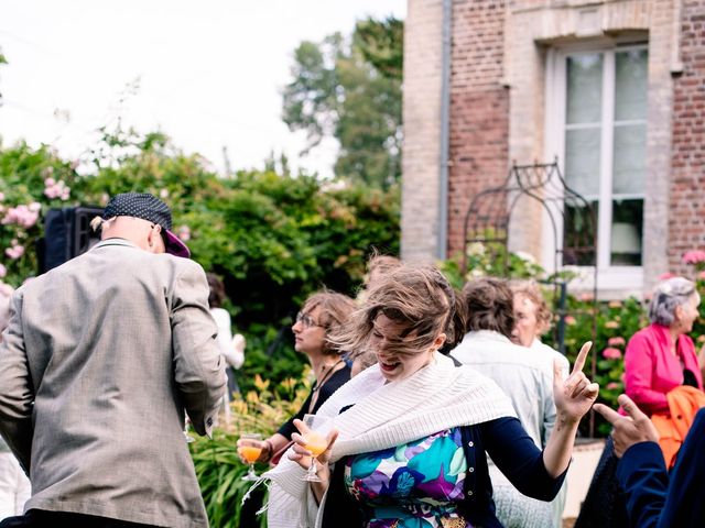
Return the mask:
[[629,448],[639,442],[658,442],[659,432],[653,422],[644,415],[629,396],[622,394],[617,399],[628,416],[610,409],[606,405],[595,404],[593,408],[612,425],[615,454],[621,458]]

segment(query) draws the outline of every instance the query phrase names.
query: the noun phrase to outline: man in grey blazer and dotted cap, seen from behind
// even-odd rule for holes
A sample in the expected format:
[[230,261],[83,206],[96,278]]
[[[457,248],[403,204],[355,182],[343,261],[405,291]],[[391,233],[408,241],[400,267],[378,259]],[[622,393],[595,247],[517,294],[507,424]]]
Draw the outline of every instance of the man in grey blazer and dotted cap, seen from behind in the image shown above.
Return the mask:
[[0,527],[207,527],[182,432],[185,410],[210,433],[226,386],[206,276],[154,196],[97,220],[96,246],[12,298],[0,432],[32,497]]

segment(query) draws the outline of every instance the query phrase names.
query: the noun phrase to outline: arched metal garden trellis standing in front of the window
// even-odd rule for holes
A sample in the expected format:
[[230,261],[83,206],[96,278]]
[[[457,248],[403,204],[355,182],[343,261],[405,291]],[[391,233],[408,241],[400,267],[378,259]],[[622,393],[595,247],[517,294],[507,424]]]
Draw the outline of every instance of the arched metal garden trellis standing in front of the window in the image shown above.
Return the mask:
[[[512,213],[521,200],[530,200],[539,206],[543,221],[544,241],[553,243],[553,270],[542,283],[553,287],[554,312],[558,316],[555,326],[555,340],[558,350],[565,353],[565,318],[567,282],[560,272],[565,266],[592,265],[592,334],[597,334],[597,266],[594,263],[597,248],[595,211],[589,201],[566,184],[561,174],[557,160],[553,163],[533,163],[517,165],[514,162],[507,178],[498,187],[487,188],[473,197],[464,223],[464,243],[462,270],[468,272],[467,249],[471,244],[482,244],[490,254],[501,255],[502,275],[509,272],[509,231]],[[545,237],[551,237],[546,239]],[[597,352],[590,352],[590,373],[595,378]],[[589,436],[594,433],[595,417],[590,414]]]

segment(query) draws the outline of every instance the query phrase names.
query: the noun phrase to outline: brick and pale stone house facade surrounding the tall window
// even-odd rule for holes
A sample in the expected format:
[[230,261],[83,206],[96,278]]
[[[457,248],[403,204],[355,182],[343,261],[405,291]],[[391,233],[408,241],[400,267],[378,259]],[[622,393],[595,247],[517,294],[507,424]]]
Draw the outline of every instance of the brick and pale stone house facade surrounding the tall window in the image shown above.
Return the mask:
[[[440,144],[442,121],[437,108],[425,117],[417,109],[413,81],[423,65],[419,47],[411,53],[410,35],[426,47],[429,40],[441,38],[441,4],[409,0],[406,21],[404,166],[416,168],[413,185],[408,185],[404,169],[403,209],[423,205],[435,215],[432,222],[416,209],[402,219],[402,245],[415,256],[429,253],[429,230],[437,228],[441,218],[438,207],[430,206],[442,196],[440,166],[426,164],[442,160],[438,151],[433,151],[435,160],[427,154]],[[421,22],[411,16],[423,9],[434,9],[435,18]],[[691,273],[681,264],[682,254],[705,249],[705,0],[452,0],[451,24],[447,256],[463,251],[473,197],[499,185],[512,161],[562,155],[551,146],[556,144],[549,113],[552,53],[566,46],[615,46],[623,38],[649,46],[643,266],[638,274],[610,268],[605,276],[611,273],[611,279],[599,278],[598,284],[607,296],[627,295],[650,290],[665,271]],[[441,50],[437,44],[434,51]],[[443,57],[434,57],[422,73],[424,87],[435,90],[442,86]],[[437,100],[435,92],[425,95]],[[413,127],[408,117],[415,118]],[[422,165],[425,172],[419,170]],[[545,265],[553,250],[547,250],[542,222],[539,208],[520,204],[512,213],[509,242],[511,250],[532,253]]]

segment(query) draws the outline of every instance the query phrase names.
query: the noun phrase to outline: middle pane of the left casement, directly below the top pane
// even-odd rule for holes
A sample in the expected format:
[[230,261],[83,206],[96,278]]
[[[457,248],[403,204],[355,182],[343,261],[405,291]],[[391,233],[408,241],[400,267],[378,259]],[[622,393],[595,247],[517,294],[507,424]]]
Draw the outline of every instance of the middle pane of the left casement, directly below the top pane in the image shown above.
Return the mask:
[[600,129],[565,132],[565,182],[584,197],[599,194]]

